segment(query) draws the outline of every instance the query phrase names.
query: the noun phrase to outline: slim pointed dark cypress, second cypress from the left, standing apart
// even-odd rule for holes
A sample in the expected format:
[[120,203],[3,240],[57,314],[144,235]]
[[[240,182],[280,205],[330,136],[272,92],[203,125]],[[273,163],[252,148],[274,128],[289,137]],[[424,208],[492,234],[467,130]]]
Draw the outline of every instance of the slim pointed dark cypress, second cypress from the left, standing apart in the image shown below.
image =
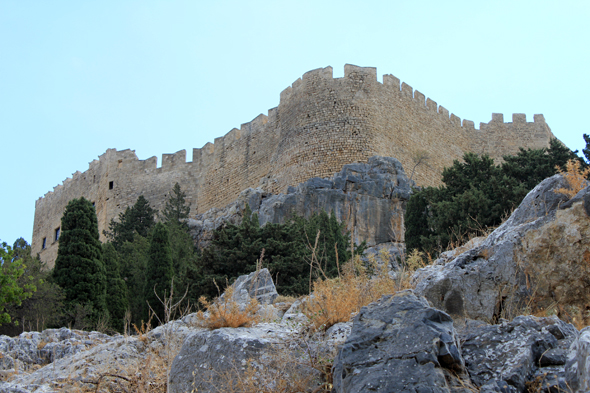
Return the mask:
[[[173,275],[168,236],[166,225],[159,222],[154,226],[150,236],[149,259],[146,269],[145,300],[161,321],[164,321],[164,306],[160,300],[163,301],[170,295]],[[146,320],[149,317],[149,312],[149,308],[146,308]],[[158,318],[152,320],[153,325],[158,324]]]

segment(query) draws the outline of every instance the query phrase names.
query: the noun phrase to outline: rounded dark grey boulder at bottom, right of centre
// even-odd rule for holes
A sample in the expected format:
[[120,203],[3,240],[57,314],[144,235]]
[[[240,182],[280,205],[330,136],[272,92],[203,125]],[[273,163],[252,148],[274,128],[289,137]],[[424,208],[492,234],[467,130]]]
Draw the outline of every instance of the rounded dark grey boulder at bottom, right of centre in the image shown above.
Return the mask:
[[462,391],[454,375],[464,366],[451,317],[403,291],[354,318],[334,361],[334,391]]

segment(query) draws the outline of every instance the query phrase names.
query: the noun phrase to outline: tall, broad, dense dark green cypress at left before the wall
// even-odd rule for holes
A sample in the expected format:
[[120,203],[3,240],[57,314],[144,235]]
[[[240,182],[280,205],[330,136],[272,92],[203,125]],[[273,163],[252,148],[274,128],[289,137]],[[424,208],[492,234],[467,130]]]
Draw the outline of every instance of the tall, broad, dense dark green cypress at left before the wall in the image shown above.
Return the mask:
[[83,197],[71,200],[62,216],[53,278],[63,288],[70,312],[76,306],[83,307],[93,323],[105,314],[106,270],[96,211]]

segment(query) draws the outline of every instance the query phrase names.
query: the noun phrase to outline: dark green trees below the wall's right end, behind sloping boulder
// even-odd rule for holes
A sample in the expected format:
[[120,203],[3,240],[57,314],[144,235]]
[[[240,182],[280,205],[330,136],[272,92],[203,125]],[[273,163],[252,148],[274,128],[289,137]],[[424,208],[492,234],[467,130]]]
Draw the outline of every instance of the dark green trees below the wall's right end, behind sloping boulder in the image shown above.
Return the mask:
[[577,159],[557,139],[549,148],[520,149],[495,165],[487,156],[467,153],[442,173],[441,187],[415,192],[406,207],[406,247],[437,253],[469,236],[499,225],[539,182]]

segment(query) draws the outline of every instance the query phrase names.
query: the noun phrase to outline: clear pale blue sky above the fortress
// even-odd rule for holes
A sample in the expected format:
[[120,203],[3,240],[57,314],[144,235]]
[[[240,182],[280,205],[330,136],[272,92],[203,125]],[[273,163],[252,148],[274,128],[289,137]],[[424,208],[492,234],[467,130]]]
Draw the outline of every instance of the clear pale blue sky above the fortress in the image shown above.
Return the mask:
[[0,241],[108,148],[200,148],[305,72],[393,74],[462,119],[542,113],[585,146],[590,2],[0,0]]

